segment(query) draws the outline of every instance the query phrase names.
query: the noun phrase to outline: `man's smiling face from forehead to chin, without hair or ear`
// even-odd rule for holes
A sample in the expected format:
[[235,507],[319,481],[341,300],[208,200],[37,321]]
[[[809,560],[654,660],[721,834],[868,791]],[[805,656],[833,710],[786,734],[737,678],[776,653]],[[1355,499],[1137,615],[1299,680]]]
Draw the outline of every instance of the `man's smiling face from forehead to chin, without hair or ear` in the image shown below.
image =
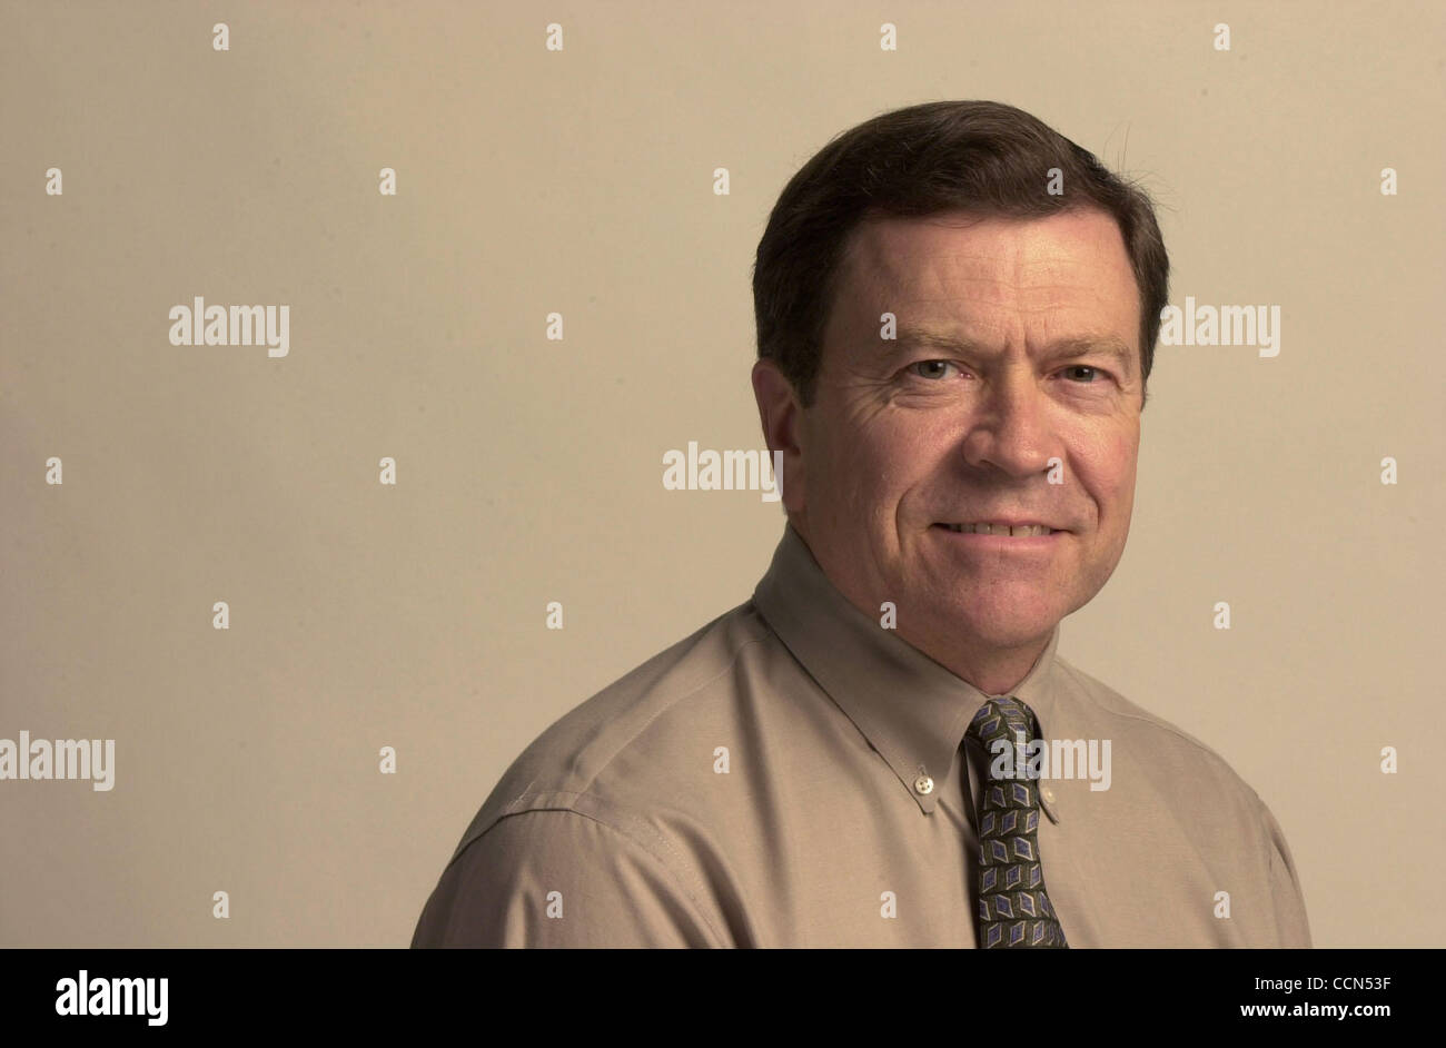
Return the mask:
[[[881,337],[885,312],[897,340]],[[1138,331],[1139,293],[1105,212],[860,227],[784,486],[834,585],[873,616],[894,601],[905,637],[993,650],[1037,643],[1086,604],[1129,532]],[[1056,532],[950,529],[1001,519]]]

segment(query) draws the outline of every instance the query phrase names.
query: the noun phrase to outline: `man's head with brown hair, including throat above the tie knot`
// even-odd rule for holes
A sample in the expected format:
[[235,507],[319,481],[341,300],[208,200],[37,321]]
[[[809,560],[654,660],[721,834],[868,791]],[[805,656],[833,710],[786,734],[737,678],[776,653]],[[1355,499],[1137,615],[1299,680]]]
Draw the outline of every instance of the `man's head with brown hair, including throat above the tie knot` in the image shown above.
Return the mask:
[[[834,585],[1012,687],[1124,552],[1167,282],[1148,198],[1017,108],[917,106],[814,156],[759,243],[753,387]],[[950,529],[1001,519],[1056,532]]]

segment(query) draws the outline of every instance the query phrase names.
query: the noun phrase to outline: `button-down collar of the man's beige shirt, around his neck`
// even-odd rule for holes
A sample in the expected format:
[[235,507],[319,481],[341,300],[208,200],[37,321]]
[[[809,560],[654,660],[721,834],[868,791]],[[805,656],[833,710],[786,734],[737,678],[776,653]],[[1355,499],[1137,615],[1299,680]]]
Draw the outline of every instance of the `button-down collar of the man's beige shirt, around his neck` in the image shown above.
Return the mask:
[[[995,697],[850,604],[792,525],[784,526],[774,561],[753,590],[753,604],[888,762],[910,796],[933,812],[937,786],[949,775],[969,721]],[[1030,674],[1006,692],[1035,711],[1041,731],[1051,713],[1058,642],[1056,623]],[[921,792],[920,776],[931,778],[934,788]]]

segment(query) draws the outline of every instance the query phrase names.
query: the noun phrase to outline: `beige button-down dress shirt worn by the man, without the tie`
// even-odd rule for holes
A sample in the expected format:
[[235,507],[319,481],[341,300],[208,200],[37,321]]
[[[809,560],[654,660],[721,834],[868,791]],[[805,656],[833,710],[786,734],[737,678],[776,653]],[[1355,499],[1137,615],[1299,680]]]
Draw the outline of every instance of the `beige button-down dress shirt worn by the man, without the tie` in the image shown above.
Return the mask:
[[[1040,782],[1070,947],[1309,947],[1255,791],[1058,636],[1008,694],[1045,739],[1111,740],[1108,789]],[[964,730],[986,698],[849,604],[785,525],[750,601],[512,763],[412,945],[975,947],[991,757]]]

